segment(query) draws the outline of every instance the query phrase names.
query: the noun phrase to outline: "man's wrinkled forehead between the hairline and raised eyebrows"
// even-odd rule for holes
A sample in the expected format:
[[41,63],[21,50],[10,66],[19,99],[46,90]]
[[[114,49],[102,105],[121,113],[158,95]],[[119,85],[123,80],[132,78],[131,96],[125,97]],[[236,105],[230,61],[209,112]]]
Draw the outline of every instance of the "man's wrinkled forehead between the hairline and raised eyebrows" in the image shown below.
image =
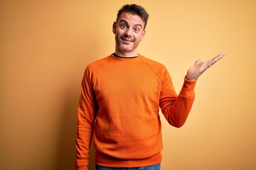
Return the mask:
[[131,25],[141,24],[142,26],[144,26],[144,21],[142,20],[142,18],[132,13],[127,13],[127,12],[121,13],[117,22],[119,23],[120,21],[127,21],[127,23]]

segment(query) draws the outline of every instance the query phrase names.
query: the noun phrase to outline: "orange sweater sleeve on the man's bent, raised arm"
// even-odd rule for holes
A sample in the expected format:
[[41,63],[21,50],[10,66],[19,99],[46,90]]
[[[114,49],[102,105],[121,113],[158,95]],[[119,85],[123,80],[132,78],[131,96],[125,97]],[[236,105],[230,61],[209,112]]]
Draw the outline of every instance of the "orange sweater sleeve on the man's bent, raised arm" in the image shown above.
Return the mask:
[[162,78],[160,108],[164,117],[176,128],[180,128],[188,118],[195,98],[196,81],[184,79],[180,93],[177,95],[169,72],[165,70]]

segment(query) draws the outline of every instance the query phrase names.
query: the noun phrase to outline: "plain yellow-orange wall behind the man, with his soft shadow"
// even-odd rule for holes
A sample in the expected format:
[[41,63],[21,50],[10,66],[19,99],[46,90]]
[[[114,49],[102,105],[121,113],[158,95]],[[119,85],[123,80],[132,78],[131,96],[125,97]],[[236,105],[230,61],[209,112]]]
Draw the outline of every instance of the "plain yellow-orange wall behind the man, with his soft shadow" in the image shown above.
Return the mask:
[[0,0],[0,169],[74,169],[82,74],[114,52],[127,3],[149,11],[139,53],[166,65],[177,92],[197,59],[226,55],[198,80],[183,128],[161,116],[162,169],[256,169],[253,0]]

